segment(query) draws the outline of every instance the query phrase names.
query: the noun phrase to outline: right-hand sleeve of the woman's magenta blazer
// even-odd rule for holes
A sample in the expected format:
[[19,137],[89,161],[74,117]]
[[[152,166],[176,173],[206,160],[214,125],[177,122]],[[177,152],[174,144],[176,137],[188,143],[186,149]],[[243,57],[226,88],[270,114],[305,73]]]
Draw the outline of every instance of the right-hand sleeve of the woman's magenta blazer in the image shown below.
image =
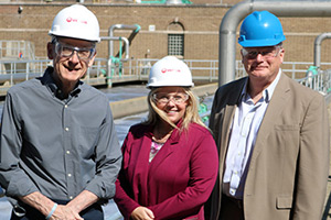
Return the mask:
[[190,160],[190,180],[188,187],[161,204],[148,207],[156,219],[172,219],[197,213],[207,200],[218,172],[218,156],[212,135],[201,139]]

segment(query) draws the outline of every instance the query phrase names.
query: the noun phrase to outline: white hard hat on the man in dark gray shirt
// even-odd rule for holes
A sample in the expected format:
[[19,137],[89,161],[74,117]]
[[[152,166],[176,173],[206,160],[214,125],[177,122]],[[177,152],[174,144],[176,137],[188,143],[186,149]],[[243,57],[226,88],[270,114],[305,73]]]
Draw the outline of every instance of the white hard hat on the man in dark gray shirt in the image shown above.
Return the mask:
[[50,35],[99,42],[99,22],[95,14],[82,4],[62,9],[54,18]]

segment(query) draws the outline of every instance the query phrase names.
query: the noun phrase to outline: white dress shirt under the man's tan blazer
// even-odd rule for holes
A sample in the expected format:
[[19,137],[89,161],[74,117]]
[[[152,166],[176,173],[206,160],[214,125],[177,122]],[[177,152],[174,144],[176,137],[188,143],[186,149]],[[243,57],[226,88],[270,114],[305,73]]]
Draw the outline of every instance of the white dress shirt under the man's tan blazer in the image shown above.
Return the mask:
[[[247,94],[247,81],[243,88],[239,103],[231,125],[228,150],[223,177],[223,193],[243,199],[243,186],[246,180],[250,154],[253,152],[259,125],[267,110],[274,90],[281,75],[279,69],[276,79],[263,91],[263,97],[254,105]],[[245,172],[246,170],[246,172]]]

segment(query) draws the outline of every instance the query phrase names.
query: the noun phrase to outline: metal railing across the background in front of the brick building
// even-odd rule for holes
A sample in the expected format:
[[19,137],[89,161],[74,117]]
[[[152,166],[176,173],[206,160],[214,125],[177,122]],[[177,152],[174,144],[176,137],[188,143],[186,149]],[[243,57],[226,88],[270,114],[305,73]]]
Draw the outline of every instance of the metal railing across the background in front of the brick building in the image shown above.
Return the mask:
[[[94,65],[88,69],[84,80],[87,84],[107,84],[116,80],[147,80],[151,66],[159,59],[141,58],[129,59],[121,65],[113,64],[111,73],[107,73],[106,58],[96,58]],[[190,67],[193,80],[217,81],[218,61],[210,59],[184,59]],[[52,65],[50,59],[0,59],[0,90],[13,86],[23,80],[42,76],[44,69]],[[289,77],[298,80],[314,90],[328,94],[330,91],[330,72],[319,70],[318,75],[307,77],[307,68],[312,65],[308,62],[285,62],[282,72]],[[331,69],[331,63],[322,63],[321,66]],[[236,76],[246,76],[245,68],[241,61],[236,61]],[[3,87],[3,88],[2,88]]]

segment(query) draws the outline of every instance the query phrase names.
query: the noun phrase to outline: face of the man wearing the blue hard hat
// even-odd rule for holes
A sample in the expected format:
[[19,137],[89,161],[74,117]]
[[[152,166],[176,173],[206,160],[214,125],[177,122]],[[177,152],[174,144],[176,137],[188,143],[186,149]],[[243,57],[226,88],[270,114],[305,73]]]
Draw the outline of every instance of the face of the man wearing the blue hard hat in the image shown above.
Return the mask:
[[250,80],[270,84],[279,72],[284,54],[280,46],[245,47],[242,50],[242,62]]

